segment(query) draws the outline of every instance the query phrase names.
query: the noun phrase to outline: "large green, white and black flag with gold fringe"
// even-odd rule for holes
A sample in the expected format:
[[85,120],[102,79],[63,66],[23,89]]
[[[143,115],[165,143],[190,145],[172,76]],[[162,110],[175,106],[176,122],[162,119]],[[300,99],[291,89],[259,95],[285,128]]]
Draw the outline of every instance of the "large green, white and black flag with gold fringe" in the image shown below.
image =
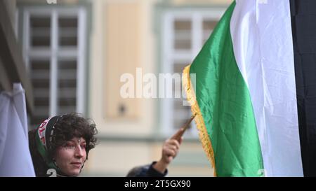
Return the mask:
[[[315,42],[316,30],[315,16],[298,17],[304,6],[308,9],[306,1],[234,1],[183,70],[214,176],[312,174],[306,169],[316,165],[316,67],[308,50],[315,52],[316,43],[307,43],[304,60],[296,41],[302,44],[303,34],[310,34]],[[314,23],[303,24],[305,30],[314,30],[296,36],[303,21]],[[195,74],[195,83],[188,74]]]

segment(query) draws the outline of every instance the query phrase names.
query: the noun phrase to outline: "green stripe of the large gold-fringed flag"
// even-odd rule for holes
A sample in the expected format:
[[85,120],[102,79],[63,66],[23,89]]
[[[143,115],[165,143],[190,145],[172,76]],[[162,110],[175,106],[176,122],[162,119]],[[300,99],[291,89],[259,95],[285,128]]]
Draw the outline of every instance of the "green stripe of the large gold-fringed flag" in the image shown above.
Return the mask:
[[261,176],[263,159],[251,97],[237,67],[230,36],[234,8],[235,1],[190,65],[190,74],[196,73],[197,105],[192,106],[192,112],[202,114],[202,121],[195,121],[207,132],[201,136],[199,129],[201,141],[209,136],[212,148],[204,150],[213,150],[206,154],[213,155],[210,160],[215,160],[217,176]]

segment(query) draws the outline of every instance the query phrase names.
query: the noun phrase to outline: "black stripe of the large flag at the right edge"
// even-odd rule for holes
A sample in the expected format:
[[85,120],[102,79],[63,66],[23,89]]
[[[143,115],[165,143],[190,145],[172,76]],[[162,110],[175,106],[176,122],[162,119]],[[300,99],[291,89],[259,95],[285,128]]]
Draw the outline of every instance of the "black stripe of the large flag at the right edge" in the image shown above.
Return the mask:
[[304,176],[316,176],[316,1],[290,0]]

